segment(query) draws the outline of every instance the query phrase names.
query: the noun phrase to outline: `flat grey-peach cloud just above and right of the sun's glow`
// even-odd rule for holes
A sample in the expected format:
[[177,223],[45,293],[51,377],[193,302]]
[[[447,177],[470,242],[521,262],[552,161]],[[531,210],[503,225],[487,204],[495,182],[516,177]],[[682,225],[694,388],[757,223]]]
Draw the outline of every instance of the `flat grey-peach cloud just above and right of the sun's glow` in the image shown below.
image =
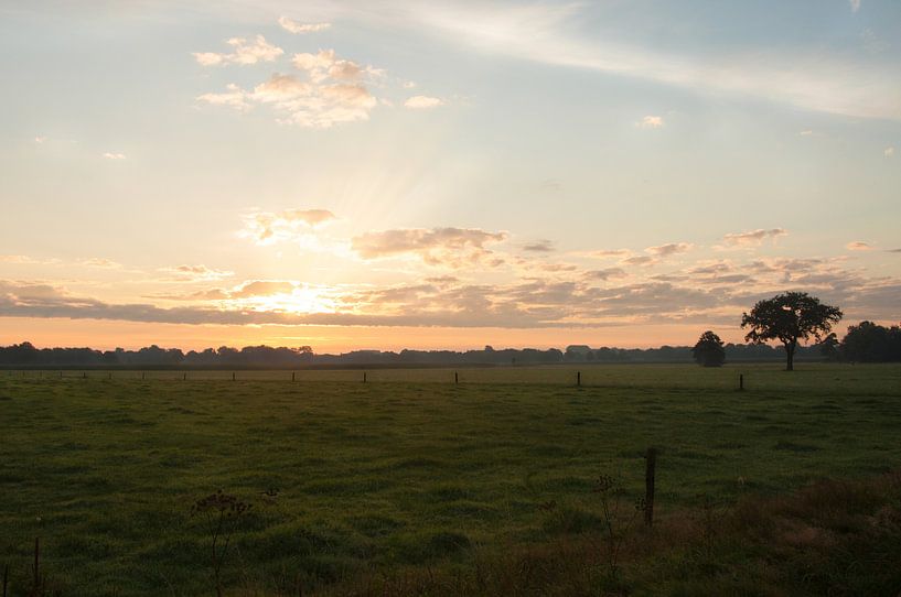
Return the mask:
[[429,265],[496,267],[502,260],[485,247],[506,238],[506,232],[478,228],[405,228],[354,237],[351,248],[363,259],[415,256]]

